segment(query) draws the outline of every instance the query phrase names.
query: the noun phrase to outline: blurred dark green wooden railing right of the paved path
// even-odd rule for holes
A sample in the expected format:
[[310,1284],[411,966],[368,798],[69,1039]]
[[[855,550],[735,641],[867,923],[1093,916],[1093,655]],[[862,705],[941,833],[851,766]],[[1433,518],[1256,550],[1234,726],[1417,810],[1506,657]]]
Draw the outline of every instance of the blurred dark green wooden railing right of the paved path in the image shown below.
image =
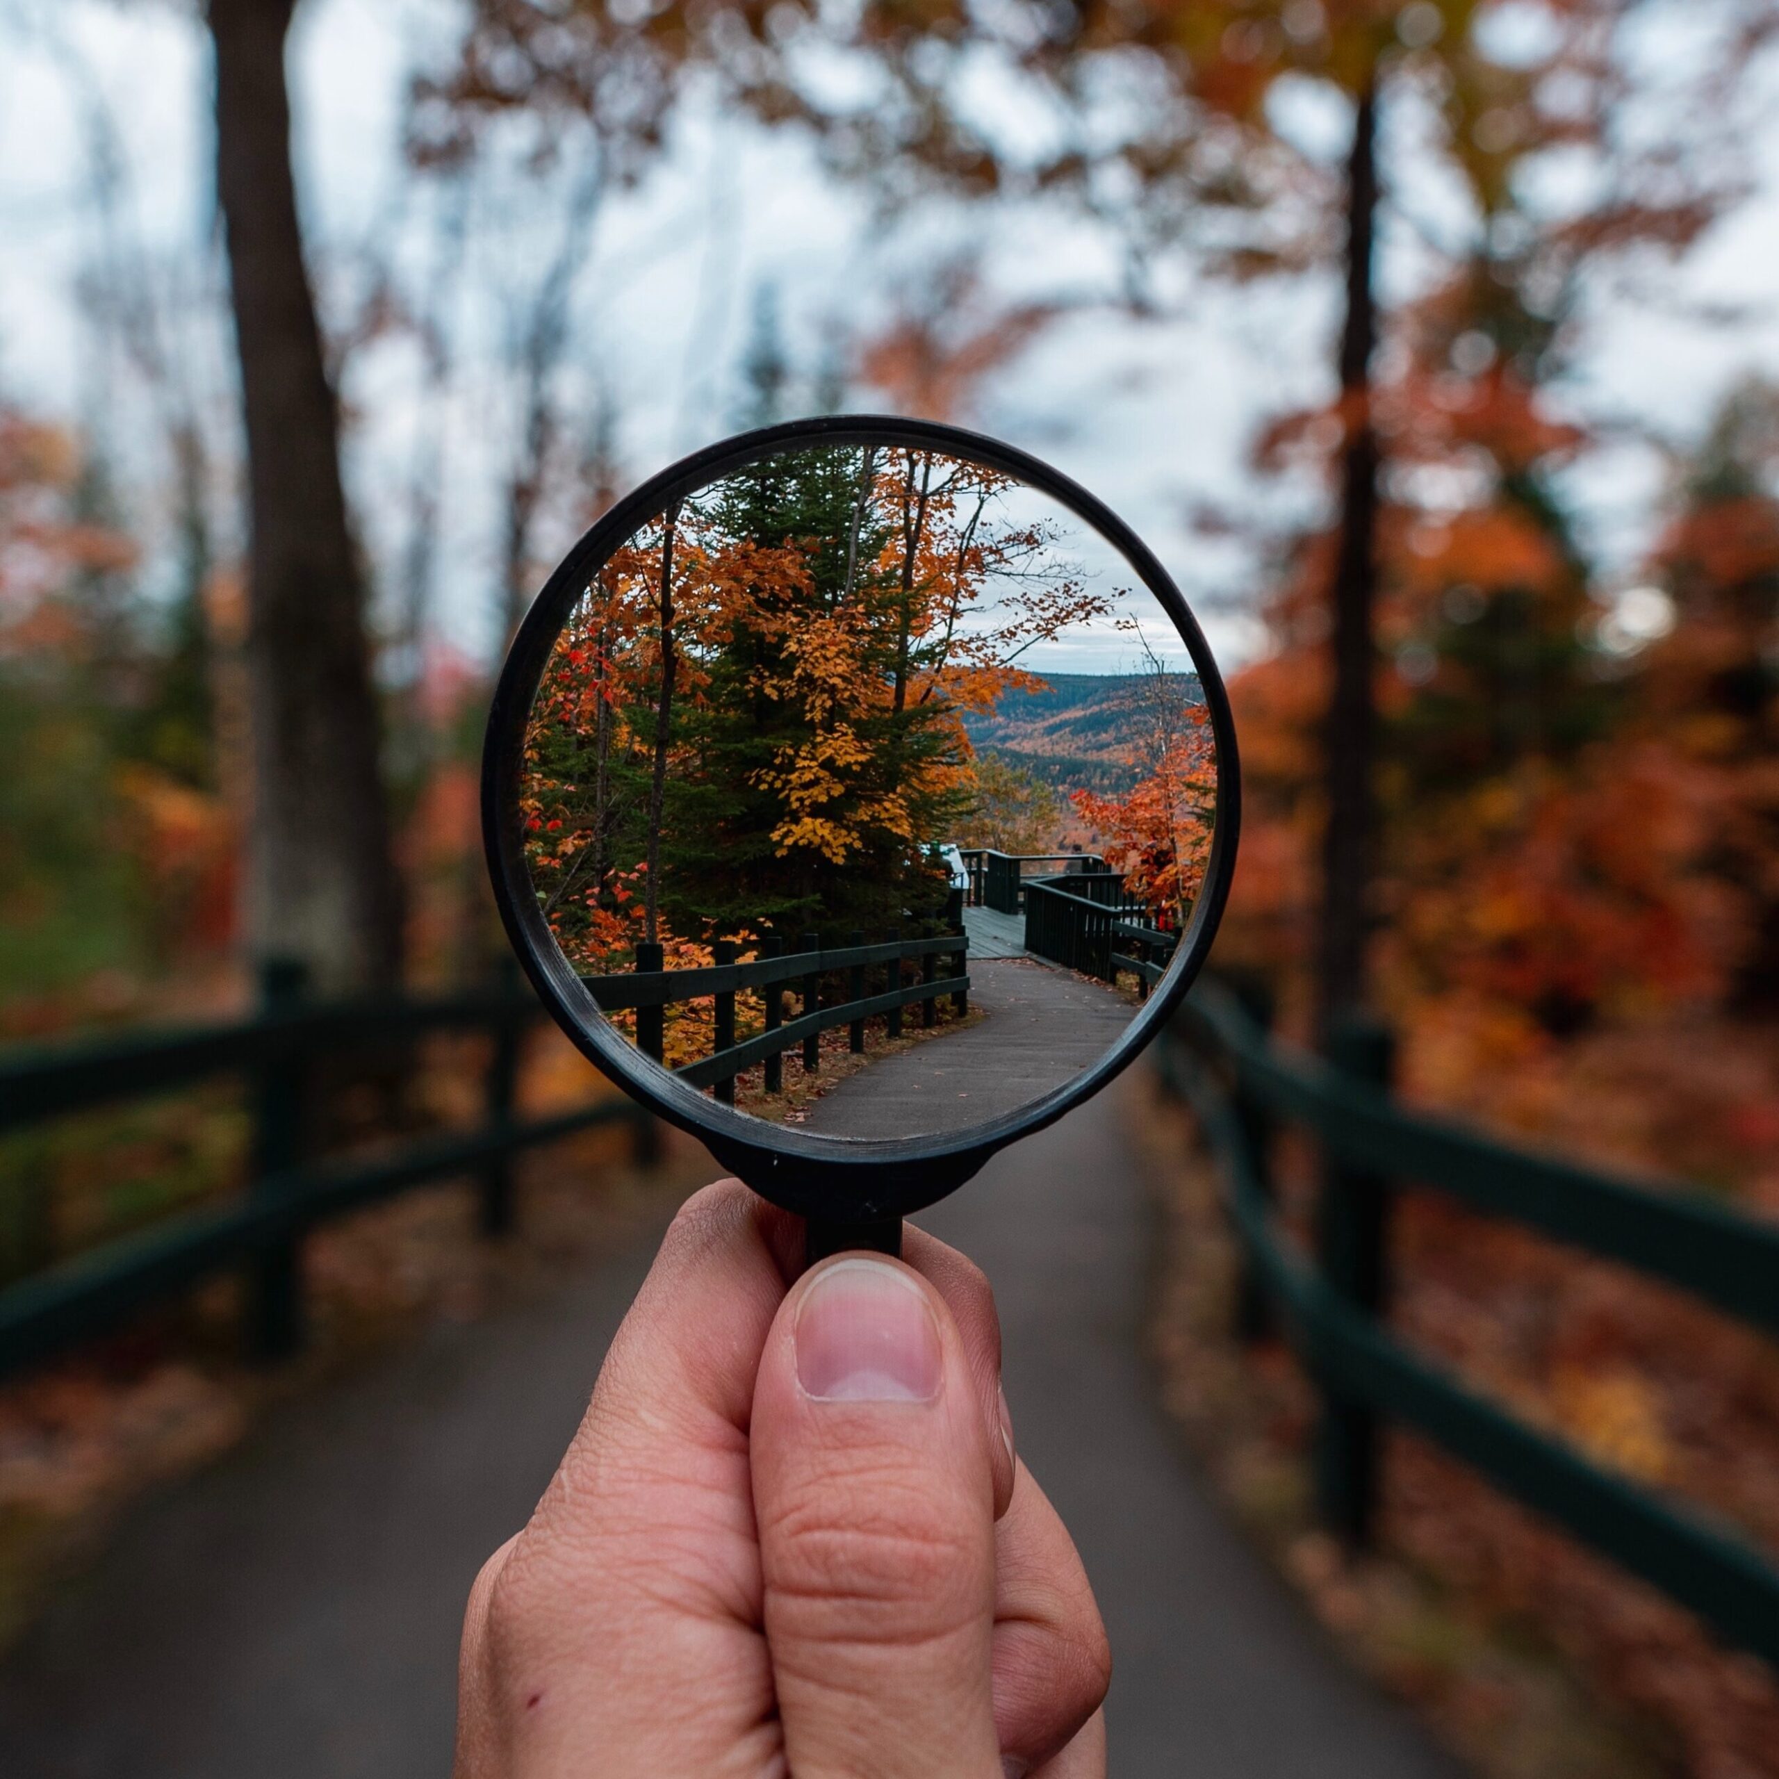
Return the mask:
[[[1363,1541],[1384,1420],[1416,1429],[1583,1544],[1690,1606],[1733,1644],[1779,1663],[1779,1567],[1736,1530],[1590,1462],[1393,1338],[1384,1251],[1398,1187],[1537,1229],[1635,1267],[1779,1334],[1779,1226],[1686,1188],[1653,1190],[1496,1142],[1388,1094],[1389,1044],[1354,1025],[1338,1066],[1272,1042],[1252,1005],[1201,986],[1156,1046],[1163,1080],[1192,1105],[1219,1160],[1245,1256],[1240,1331],[1279,1325],[1322,1395],[1316,1501]],[[1315,1254],[1272,1219],[1270,1139],[1311,1131],[1324,1151]]]

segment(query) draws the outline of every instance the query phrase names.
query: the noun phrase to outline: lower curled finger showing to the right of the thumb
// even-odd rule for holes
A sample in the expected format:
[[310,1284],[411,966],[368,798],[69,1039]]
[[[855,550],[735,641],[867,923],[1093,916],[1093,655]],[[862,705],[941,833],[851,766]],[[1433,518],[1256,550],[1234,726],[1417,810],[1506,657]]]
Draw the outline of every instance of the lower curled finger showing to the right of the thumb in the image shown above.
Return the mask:
[[1009,1770],[1028,1772],[1071,1745],[1110,1681],[1087,1571],[1021,1464],[994,1528],[994,1731]]

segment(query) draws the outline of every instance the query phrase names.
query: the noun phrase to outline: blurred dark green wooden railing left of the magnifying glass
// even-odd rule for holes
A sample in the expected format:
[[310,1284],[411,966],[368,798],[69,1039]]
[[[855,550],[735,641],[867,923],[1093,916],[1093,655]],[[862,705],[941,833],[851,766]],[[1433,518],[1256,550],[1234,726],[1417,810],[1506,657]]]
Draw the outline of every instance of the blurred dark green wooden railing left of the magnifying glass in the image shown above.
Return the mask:
[[[251,1089],[253,1142],[240,1194],[167,1217],[0,1290],[0,1375],[103,1334],[133,1313],[176,1297],[217,1272],[247,1274],[247,1340],[278,1357],[302,1338],[301,1245],[318,1222],[406,1192],[473,1176],[480,1224],[512,1224],[512,1160],[521,1149],[600,1124],[628,1126],[635,1156],[658,1153],[655,1121],[628,1099],[600,1099],[553,1117],[516,1117],[519,1041],[543,1009],[516,982],[479,994],[311,1005],[302,971],[272,964],[262,1007],[176,1032],[155,1032],[14,1053],[0,1060],[0,1133],[117,1101],[235,1076]],[[311,1158],[317,1069],[375,1053],[400,1059],[429,1032],[493,1039],[484,1073],[484,1121],[374,1156]]]

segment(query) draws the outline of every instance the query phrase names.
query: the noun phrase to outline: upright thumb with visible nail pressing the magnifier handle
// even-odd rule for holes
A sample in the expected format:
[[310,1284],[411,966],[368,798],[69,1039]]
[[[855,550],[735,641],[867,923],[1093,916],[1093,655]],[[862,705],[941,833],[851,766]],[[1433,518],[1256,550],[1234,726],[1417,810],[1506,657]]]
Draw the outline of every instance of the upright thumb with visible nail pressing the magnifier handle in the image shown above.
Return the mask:
[[797,1779],[1000,1779],[994,1469],[957,1324],[841,1254],[777,1311],[749,1429],[765,1631]]

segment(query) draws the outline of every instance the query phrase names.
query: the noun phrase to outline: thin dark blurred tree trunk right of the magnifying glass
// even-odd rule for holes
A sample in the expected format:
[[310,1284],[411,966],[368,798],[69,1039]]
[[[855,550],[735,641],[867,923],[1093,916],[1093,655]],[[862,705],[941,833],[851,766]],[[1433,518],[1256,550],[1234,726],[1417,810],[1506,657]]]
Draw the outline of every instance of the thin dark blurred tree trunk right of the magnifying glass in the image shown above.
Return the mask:
[[1377,98],[1357,103],[1347,158],[1347,322],[1340,342],[1347,445],[1341,457],[1340,551],[1334,560],[1334,680],[1327,717],[1327,829],[1322,845],[1316,1026],[1322,1041],[1364,1002],[1372,879],[1375,749],[1372,635],[1377,594],[1377,432],[1372,425],[1372,349],[1377,299],[1372,233],[1377,210]]

